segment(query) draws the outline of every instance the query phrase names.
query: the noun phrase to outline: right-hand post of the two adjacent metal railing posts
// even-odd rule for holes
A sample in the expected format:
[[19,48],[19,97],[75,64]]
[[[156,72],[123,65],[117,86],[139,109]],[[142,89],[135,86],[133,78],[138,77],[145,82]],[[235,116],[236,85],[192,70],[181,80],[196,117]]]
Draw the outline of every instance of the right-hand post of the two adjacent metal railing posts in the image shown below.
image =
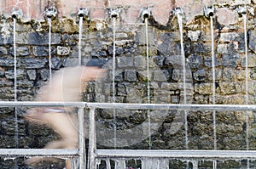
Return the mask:
[[95,107],[90,107],[90,133],[89,133],[89,166],[90,169],[96,168],[96,121]]

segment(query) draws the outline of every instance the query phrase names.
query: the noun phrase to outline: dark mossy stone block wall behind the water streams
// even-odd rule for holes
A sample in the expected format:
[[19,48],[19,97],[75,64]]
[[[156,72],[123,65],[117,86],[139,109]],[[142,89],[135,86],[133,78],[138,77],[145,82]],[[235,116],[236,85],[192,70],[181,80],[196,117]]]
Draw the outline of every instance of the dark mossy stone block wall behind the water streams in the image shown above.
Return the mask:
[[[118,2],[115,3],[119,4]],[[256,102],[256,30],[254,28],[256,20],[253,16],[255,3],[219,1],[214,3],[216,15],[213,17],[216,104],[245,104],[246,63],[243,20],[236,12],[239,5],[244,3],[248,9],[249,104]],[[146,3],[142,4],[144,6]],[[212,104],[210,20],[203,15],[203,6],[196,6],[204,3],[193,3],[189,10],[186,10],[189,8],[186,2],[177,2],[177,4],[185,9],[183,42],[187,62],[187,102]],[[170,8],[177,4],[170,5]],[[194,10],[194,8],[198,9]],[[126,9],[121,9],[120,18],[116,23],[117,59],[114,96],[120,103],[148,103],[145,25],[137,14],[137,18],[127,21],[124,18],[125,14],[129,14],[126,13]],[[61,14],[66,16],[66,12],[62,10]],[[89,61],[90,65],[103,65],[103,68],[108,69],[109,72],[102,80],[90,82],[89,87],[84,91],[84,101],[112,102],[113,99],[113,20],[108,16],[108,9],[104,9],[102,13],[104,17],[101,20],[99,18],[84,20],[82,56],[84,65]],[[183,104],[183,64],[177,17],[172,13],[165,16],[160,20],[160,13],[153,10],[153,16],[148,19],[150,102]],[[58,16],[52,20],[50,53],[53,73],[63,67],[78,64],[78,23],[79,20],[75,15]],[[13,19],[8,17],[7,11],[3,12],[0,20],[1,101],[14,100],[13,28]],[[46,20],[28,20],[26,17],[26,20],[17,22],[18,101],[32,101],[38,88],[49,80],[48,31],[49,25]],[[17,112],[19,148],[42,148],[44,144],[57,138],[49,128],[44,127],[45,130],[42,131],[41,126],[34,126],[24,121],[23,115],[26,109],[18,109]],[[152,111],[150,114],[152,149],[185,149],[183,111]],[[255,114],[248,112],[248,115],[250,149],[255,149]],[[217,112],[216,119],[217,149],[246,149],[246,112],[220,111]],[[1,108],[0,121],[0,148],[15,148],[15,110]],[[148,111],[117,110],[117,121],[113,121],[113,110],[98,110],[97,125],[99,147],[113,147],[113,126],[116,125],[119,146],[148,149]],[[211,110],[188,112],[189,149],[213,149],[212,132]]]

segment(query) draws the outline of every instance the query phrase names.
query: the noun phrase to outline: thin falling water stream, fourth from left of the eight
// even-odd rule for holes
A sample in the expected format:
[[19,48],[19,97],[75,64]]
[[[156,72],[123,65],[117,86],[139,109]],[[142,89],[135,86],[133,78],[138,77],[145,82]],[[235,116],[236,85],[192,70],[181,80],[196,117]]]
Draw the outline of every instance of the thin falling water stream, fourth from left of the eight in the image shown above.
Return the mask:
[[[115,77],[115,33],[116,33],[116,17],[113,17],[113,61],[112,61],[112,91],[113,91],[113,103],[115,103],[115,82],[114,82],[114,77]],[[116,148],[116,112],[113,110],[113,146]]]

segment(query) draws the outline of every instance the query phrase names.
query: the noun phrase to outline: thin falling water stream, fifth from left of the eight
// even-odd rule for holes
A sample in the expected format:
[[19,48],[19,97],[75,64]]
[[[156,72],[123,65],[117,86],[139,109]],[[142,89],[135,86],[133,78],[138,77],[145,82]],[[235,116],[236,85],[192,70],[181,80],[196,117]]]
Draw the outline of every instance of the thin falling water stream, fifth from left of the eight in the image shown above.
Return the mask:
[[[148,91],[148,104],[150,104],[150,76],[149,76],[149,52],[148,52],[148,18],[145,17],[145,33],[146,33],[146,54],[147,54],[147,91]],[[151,149],[151,115],[148,110],[148,148]]]

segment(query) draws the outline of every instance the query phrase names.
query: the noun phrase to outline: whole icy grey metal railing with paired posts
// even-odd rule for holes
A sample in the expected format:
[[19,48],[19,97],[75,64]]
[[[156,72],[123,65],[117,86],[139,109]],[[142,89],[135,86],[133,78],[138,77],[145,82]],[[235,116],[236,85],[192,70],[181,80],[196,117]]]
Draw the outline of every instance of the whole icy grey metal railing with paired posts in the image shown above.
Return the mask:
[[90,109],[89,168],[96,168],[96,158],[181,158],[181,159],[256,159],[254,150],[152,150],[152,149],[96,149],[96,109],[127,110],[256,110],[256,105],[243,104],[118,104],[87,102],[0,102],[0,107],[77,107],[79,108],[79,149],[0,149],[0,155],[75,156],[79,168],[86,168],[84,138],[84,108]]

